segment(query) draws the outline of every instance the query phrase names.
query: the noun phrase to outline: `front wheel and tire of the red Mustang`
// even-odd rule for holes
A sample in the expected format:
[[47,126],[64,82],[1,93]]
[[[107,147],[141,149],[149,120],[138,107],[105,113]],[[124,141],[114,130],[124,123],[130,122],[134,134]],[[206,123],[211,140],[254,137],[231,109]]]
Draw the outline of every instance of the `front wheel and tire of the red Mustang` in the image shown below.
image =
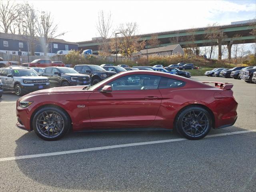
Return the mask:
[[32,126],[38,137],[54,141],[62,138],[70,130],[71,121],[64,110],[49,106],[36,112]]

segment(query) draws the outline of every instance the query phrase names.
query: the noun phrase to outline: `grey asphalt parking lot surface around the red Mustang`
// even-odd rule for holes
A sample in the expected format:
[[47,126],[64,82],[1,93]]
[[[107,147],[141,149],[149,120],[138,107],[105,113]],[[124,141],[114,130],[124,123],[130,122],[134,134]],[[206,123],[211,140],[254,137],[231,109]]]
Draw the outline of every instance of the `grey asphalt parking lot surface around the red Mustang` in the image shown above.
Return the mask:
[[[234,84],[239,104],[234,126],[211,130],[209,137],[196,141],[171,131],[120,131],[70,133],[47,142],[15,127],[18,96],[4,93],[0,191],[255,191],[256,84],[231,78],[192,79]],[[146,143],[134,144],[142,142]],[[92,149],[74,151],[88,148]],[[54,152],[59,153],[46,154]],[[10,158],[18,156],[26,158]]]

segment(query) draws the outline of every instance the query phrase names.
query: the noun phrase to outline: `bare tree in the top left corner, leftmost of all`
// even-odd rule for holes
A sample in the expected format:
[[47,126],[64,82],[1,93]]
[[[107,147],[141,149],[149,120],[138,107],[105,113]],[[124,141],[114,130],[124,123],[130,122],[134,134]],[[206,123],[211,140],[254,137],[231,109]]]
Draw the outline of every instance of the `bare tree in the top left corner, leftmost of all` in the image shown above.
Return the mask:
[[[10,0],[4,4],[3,1],[0,1],[0,28],[4,30],[5,33],[8,33],[11,29],[11,25],[20,15],[20,11],[18,9],[18,4],[15,2],[11,2]],[[13,30],[10,30],[12,33]]]

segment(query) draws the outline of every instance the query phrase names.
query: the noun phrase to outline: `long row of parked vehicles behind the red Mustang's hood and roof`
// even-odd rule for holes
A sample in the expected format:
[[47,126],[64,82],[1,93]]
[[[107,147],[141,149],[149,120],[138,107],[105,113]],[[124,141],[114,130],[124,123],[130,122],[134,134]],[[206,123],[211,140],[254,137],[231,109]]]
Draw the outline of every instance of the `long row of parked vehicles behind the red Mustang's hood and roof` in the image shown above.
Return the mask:
[[[38,64],[39,62],[36,60],[32,63]],[[40,63],[46,63],[46,61],[41,60]],[[48,67],[29,67],[26,64],[21,67],[0,68],[0,96],[2,96],[3,89],[14,90],[16,95],[22,96],[28,92],[55,86],[94,85],[112,75],[128,70],[155,70],[187,78],[191,76],[189,72],[171,66],[164,68],[162,65],[130,68],[127,65],[103,64],[102,66],[76,65],[74,68],[68,68],[56,66],[55,63]]]

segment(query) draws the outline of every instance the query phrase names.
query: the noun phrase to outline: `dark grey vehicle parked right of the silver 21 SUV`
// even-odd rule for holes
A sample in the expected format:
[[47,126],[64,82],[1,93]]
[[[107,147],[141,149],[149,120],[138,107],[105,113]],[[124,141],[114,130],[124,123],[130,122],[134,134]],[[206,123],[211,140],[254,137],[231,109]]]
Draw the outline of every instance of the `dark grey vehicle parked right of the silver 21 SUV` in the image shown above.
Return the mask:
[[68,67],[46,67],[42,76],[48,77],[51,86],[90,85],[89,75],[79,74]]

